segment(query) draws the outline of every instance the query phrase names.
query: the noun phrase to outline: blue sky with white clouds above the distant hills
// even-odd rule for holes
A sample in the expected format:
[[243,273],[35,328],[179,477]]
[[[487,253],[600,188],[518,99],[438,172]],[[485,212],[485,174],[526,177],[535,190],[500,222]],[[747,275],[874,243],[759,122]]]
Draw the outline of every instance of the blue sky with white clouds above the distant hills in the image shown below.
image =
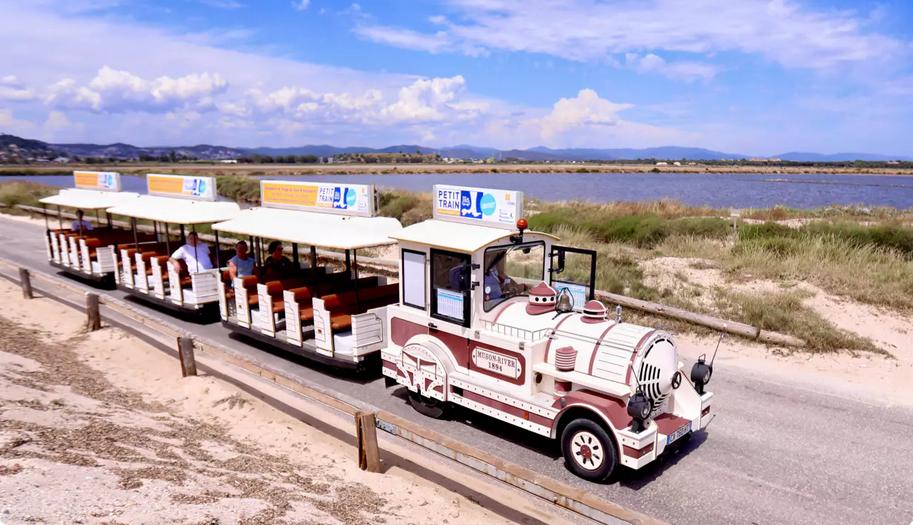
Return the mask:
[[54,142],[913,155],[913,2],[0,0]]

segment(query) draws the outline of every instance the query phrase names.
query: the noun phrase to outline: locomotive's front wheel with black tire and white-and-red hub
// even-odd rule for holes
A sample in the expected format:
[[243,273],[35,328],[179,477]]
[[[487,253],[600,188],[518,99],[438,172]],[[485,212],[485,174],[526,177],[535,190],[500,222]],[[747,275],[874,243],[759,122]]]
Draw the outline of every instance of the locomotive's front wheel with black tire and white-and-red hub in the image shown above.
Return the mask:
[[575,419],[561,433],[561,455],[568,470],[588,481],[604,481],[618,464],[615,441],[592,419]]

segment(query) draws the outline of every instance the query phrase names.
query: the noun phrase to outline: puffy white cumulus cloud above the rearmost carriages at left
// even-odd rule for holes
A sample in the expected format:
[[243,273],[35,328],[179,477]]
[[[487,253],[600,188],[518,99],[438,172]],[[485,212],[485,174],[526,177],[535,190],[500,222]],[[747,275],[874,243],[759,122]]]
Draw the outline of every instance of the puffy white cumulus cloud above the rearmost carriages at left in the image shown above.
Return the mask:
[[166,112],[181,107],[209,107],[212,97],[227,87],[228,83],[218,74],[193,73],[146,80],[128,71],[104,66],[86,85],[79,85],[71,78],[54,83],[46,101],[57,108],[109,113]]

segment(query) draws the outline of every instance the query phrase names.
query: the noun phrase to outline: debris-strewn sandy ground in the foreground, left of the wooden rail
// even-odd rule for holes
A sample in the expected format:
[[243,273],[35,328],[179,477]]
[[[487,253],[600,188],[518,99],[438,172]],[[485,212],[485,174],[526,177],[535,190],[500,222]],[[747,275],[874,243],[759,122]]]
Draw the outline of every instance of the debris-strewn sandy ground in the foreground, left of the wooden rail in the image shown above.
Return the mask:
[[0,523],[507,523],[0,281]]

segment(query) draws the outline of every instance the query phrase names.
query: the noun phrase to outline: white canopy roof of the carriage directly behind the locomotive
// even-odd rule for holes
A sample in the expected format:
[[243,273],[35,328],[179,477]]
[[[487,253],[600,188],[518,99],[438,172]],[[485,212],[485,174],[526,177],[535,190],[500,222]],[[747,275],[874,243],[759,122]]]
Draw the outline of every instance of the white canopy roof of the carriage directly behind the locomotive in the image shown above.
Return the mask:
[[403,227],[391,217],[347,217],[278,208],[251,208],[234,219],[213,224],[212,229],[309,246],[354,250],[393,244],[395,241],[391,237]]

